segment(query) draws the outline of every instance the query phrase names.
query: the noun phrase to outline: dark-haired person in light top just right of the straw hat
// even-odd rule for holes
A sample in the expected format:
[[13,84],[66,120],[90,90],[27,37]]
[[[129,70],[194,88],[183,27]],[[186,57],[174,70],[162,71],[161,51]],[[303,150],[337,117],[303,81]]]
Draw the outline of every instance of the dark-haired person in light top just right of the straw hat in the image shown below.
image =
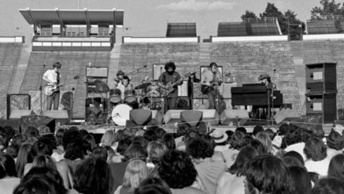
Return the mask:
[[222,151],[223,157],[225,158],[227,164],[227,168],[234,164],[240,149],[244,147],[244,137],[245,134],[243,132],[241,132],[240,130],[236,130],[230,138],[229,148]]

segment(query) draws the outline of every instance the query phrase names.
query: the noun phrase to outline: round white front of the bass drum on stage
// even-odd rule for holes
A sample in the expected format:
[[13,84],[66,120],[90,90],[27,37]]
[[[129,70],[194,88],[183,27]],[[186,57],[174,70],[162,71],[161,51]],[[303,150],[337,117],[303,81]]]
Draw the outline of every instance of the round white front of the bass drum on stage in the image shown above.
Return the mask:
[[130,111],[132,107],[127,104],[118,104],[112,109],[111,118],[115,124],[119,126],[126,126],[127,120],[130,119]]

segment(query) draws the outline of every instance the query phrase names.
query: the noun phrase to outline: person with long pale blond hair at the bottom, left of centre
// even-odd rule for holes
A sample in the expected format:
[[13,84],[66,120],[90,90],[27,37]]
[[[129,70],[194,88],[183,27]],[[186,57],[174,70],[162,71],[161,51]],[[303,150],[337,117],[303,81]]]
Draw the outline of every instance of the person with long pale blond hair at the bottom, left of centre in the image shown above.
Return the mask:
[[136,187],[138,187],[148,175],[146,163],[140,158],[131,159],[123,176],[123,184],[117,187],[115,194],[133,193]]

